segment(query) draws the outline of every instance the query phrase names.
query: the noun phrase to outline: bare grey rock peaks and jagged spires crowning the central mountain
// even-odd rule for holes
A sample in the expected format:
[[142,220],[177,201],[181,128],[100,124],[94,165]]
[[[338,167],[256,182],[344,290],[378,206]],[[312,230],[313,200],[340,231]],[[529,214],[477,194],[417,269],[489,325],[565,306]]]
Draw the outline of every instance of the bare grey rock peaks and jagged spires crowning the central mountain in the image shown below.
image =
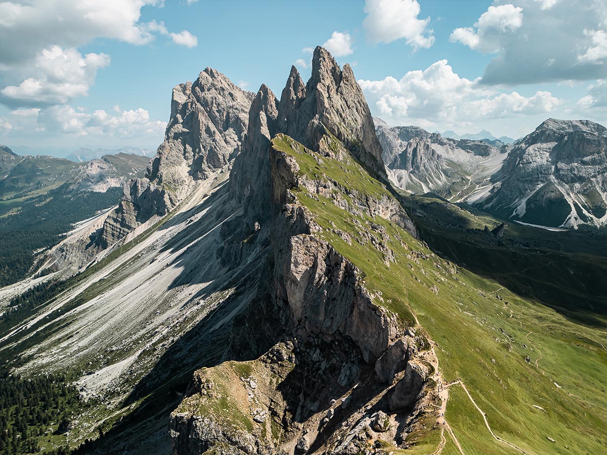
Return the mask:
[[[291,69],[280,102],[268,87],[262,86],[260,92],[263,95],[258,93],[257,98],[261,98],[257,99],[254,93],[240,89],[212,68],[202,71],[194,83],[175,86],[164,142],[152,158],[146,176],[124,186],[118,208],[107,215],[95,239],[87,243],[85,262],[76,268],[112,248],[138,227],[149,227],[164,217],[201,182],[218,175],[226,178],[226,169],[229,170],[242,147],[263,149],[260,144],[253,144],[261,136],[269,141],[283,132],[313,150],[321,150],[328,147],[327,135],[333,135],[374,175],[386,178],[381,144],[362,90],[350,66],[346,64],[340,69],[327,50],[322,47],[314,50],[307,84],[295,67]],[[257,110],[263,111],[260,113],[263,119],[256,116]],[[251,120],[254,131],[249,131]],[[262,135],[257,135],[261,130]],[[240,183],[237,198],[260,202],[260,198],[249,195],[252,187],[246,182],[253,175],[252,169],[260,171],[260,166],[265,166],[268,170],[267,163],[263,163],[251,158],[242,172],[239,172],[241,164],[236,164],[232,180]],[[61,263],[55,264],[62,267]]]

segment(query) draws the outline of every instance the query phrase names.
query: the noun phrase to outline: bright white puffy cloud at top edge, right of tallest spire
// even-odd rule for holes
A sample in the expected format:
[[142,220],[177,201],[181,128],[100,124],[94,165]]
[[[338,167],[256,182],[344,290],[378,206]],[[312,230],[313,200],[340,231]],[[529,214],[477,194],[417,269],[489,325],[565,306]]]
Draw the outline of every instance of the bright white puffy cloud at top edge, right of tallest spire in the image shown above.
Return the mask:
[[364,12],[367,17],[362,25],[373,42],[405,39],[414,49],[434,43],[433,31],[428,28],[430,18],[418,17],[421,7],[417,0],[366,0]]

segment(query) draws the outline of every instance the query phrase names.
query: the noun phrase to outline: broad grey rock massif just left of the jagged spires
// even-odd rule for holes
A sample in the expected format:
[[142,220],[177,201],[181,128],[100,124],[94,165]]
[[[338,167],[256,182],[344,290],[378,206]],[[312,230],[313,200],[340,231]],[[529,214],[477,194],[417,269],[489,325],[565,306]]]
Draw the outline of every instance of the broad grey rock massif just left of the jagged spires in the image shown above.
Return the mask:
[[120,207],[107,218],[97,245],[107,248],[138,224],[171,211],[195,186],[240,152],[253,93],[206,68],[194,83],[173,89],[171,120],[146,177],[124,188]]

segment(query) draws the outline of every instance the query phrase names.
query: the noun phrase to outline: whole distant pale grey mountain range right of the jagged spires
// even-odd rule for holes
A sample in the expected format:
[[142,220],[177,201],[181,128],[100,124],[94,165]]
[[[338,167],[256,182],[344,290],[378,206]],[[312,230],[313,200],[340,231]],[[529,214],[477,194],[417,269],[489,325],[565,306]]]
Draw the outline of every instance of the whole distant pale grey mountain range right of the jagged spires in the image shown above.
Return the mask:
[[[551,118],[515,143],[504,143],[375,123],[388,174],[402,189],[434,192],[522,223],[607,224],[607,129],[600,124]],[[481,143],[486,149],[479,151]]]

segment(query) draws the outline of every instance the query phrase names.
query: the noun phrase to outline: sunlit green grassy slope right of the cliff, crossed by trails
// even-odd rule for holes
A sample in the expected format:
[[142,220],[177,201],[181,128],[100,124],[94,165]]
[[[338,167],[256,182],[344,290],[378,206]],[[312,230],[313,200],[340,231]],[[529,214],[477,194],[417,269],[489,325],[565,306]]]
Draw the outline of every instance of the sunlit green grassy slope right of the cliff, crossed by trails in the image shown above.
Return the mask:
[[[295,157],[300,173],[308,178],[332,179],[368,194],[388,192],[353,158],[331,160],[281,138],[273,143]],[[497,436],[530,454],[605,452],[605,330],[574,323],[535,300],[512,294],[497,281],[456,268],[390,221],[354,216],[305,189],[293,192],[324,228],[320,235],[366,274],[365,285],[378,305],[398,312],[405,322],[411,321],[411,312],[417,315],[436,343],[443,377],[464,382]],[[361,231],[376,235],[371,223],[385,228],[395,262],[386,263],[382,253],[364,241]],[[351,244],[335,228],[347,232]],[[459,442],[469,448],[466,453],[512,453],[490,436],[458,387],[452,386],[447,419]],[[457,453],[449,437],[444,450]]]

